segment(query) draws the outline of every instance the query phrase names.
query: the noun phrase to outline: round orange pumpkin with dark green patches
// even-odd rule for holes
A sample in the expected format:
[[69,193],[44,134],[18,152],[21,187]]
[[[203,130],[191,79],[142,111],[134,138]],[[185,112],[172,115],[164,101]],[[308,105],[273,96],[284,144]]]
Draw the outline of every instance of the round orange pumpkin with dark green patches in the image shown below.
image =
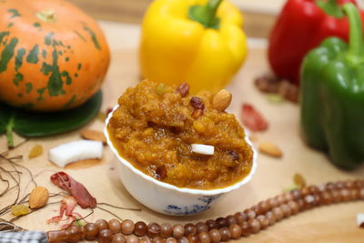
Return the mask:
[[63,0],[0,0],[0,100],[55,111],[82,105],[109,65],[96,21]]

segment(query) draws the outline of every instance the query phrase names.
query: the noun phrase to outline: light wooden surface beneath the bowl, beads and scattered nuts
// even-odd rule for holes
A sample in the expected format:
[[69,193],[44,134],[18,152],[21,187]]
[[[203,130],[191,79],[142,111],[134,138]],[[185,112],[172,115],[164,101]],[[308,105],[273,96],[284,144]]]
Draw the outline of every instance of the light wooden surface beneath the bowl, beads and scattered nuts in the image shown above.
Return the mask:
[[[106,36],[112,49],[112,63],[103,86],[104,102],[102,109],[116,105],[117,98],[128,86],[135,86],[139,80],[137,66],[138,28],[133,25],[116,25],[103,23]],[[82,182],[99,202],[108,202],[119,207],[141,208],[141,211],[108,208],[120,218],[130,218],[135,222],[144,220],[158,223],[186,223],[205,221],[208,218],[218,218],[233,214],[238,210],[248,208],[259,200],[276,196],[282,189],[292,184],[295,173],[301,173],[309,184],[325,183],[364,177],[364,167],[356,171],[346,172],[333,167],[327,157],[318,151],[307,147],[302,141],[298,127],[298,105],[289,102],[279,104],[270,103],[266,96],[254,86],[254,78],[268,72],[265,48],[250,48],[245,66],[235,77],[228,90],[233,94],[233,101],[229,107],[238,119],[243,102],[253,104],[260,110],[269,122],[268,131],[258,133],[255,146],[262,141],[272,141],[284,151],[284,157],[277,159],[258,155],[258,170],[248,185],[230,193],[214,208],[204,214],[189,218],[172,218],[159,215],[131,197],[119,181],[116,174],[116,157],[108,147],[104,149],[101,161],[86,164],[76,163],[58,168],[47,159],[47,151],[51,147],[67,141],[79,139],[79,131],[70,132],[56,137],[32,138],[23,146],[11,152],[11,156],[23,155],[21,165],[30,168],[37,177],[38,185],[47,187],[51,192],[60,189],[50,183],[49,176],[65,170],[66,173]],[[102,131],[104,124],[95,119],[86,127]],[[15,137],[15,144],[23,141],[22,137]],[[41,157],[28,159],[29,150],[34,145],[42,145],[44,153]],[[0,137],[0,152],[5,151],[5,137]],[[5,166],[4,161],[0,161]],[[9,167],[10,168],[10,167]],[[22,170],[22,195],[29,192],[33,185],[29,184],[30,177]],[[0,191],[5,188],[0,183]],[[26,187],[28,185],[28,187]],[[0,208],[8,205],[15,198],[15,190],[0,197]],[[60,197],[53,197],[51,201],[59,201]],[[107,208],[106,206],[104,206]],[[59,225],[47,225],[45,220],[57,215],[59,204],[49,205],[24,218],[15,221],[17,225],[31,230],[56,229]],[[76,212],[86,215],[89,210],[76,208]],[[364,213],[364,202],[351,202],[329,207],[315,208],[283,220],[257,235],[241,238],[242,242],[364,242],[364,230],[356,225],[356,216]],[[7,215],[6,219],[12,218]],[[95,214],[87,218],[96,221],[97,218],[113,218],[109,214],[96,209]]]

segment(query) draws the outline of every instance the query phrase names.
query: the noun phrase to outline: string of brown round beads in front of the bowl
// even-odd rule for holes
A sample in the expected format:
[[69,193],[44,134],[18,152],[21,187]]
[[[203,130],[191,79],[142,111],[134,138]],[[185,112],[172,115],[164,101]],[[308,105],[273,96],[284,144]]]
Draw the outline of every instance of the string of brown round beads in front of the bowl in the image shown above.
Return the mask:
[[169,223],[134,223],[130,219],[98,219],[85,227],[46,232],[48,241],[100,243],[218,243],[248,237],[273,226],[278,221],[310,208],[339,202],[364,200],[364,180],[329,182],[326,185],[302,187],[270,197],[251,208],[226,218],[209,219],[185,226]]

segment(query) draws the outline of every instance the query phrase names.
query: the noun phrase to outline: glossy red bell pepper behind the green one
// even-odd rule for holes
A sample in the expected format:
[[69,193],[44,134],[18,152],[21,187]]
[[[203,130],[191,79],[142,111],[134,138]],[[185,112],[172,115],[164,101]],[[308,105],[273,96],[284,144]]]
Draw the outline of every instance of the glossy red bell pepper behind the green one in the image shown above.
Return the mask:
[[[276,76],[299,84],[299,69],[309,50],[328,36],[348,41],[348,18],[340,5],[355,0],[288,0],[269,37],[268,61]],[[364,13],[360,12],[361,19]]]

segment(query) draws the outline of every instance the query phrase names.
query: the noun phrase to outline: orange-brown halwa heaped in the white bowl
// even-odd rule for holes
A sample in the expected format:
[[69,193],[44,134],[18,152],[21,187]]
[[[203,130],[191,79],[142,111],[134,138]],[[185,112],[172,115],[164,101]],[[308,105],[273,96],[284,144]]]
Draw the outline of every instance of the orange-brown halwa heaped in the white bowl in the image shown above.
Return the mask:
[[[142,81],[120,96],[107,130],[120,156],[150,177],[177,187],[228,187],[248,175],[253,151],[238,120],[224,112],[229,102],[215,108],[213,100],[207,91],[188,96],[186,83]],[[195,153],[192,145],[214,151]]]

